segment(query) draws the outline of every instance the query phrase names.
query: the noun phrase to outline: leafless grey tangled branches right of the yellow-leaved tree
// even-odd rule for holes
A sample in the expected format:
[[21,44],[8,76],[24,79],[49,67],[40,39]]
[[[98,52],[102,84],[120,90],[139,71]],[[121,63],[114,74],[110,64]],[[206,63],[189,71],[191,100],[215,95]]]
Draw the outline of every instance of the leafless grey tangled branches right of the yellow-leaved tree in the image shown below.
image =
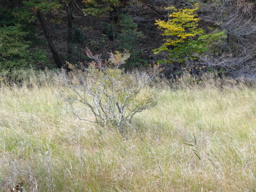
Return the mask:
[[[201,59],[210,67],[225,70],[255,71],[256,67],[256,3],[244,0],[217,0],[201,4],[199,15],[205,22],[226,31],[218,55]],[[202,14],[206,13],[206,14]]]

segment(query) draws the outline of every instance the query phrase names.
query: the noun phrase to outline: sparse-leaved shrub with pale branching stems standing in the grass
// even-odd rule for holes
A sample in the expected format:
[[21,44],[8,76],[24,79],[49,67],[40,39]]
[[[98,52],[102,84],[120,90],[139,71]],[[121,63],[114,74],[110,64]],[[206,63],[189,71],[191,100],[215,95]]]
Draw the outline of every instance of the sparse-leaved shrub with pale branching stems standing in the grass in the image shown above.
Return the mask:
[[[80,120],[105,125],[111,123],[118,129],[130,122],[136,113],[150,109],[156,105],[153,94],[140,95],[142,87],[151,82],[159,66],[150,67],[147,72],[124,72],[120,66],[129,58],[129,53],[110,53],[108,61],[102,61],[100,55],[93,55],[87,49],[87,55],[94,61],[89,67],[78,68],[67,63],[72,69],[71,74],[78,78],[74,82],[68,76],[63,76],[63,82],[70,87],[75,97],[64,97],[71,105],[72,113]],[[79,102],[88,107],[95,120],[81,118],[74,110],[74,103]]]

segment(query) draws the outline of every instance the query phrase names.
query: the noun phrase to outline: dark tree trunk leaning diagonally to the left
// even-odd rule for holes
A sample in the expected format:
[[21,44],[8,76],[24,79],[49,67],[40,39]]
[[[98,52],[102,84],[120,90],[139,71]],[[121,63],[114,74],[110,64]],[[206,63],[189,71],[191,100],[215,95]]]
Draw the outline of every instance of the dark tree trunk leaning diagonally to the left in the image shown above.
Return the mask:
[[45,20],[43,18],[43,15],[42,15],[42,12],[41,11],[37,11],[37,18],[39,19],[39,22],[41,24],[41,27],[43,29],[43,32],[44,32],[44,35],[45,35],[45,38],[46,38],[46,41],[48,42],[49,44],[49,47],[50,47],[50,50],[52,52],[52,55],[53,55],[53,58],[54,58],[54,61],[55,63],[57,64],[57,67],[58,68],[61,68],[63,67],[63,62],[61,61],[60,59],[60,56],[59,56],[59,53],[57,52],[53,42],[52,42],[52,39],[50,37],[50,34],[47,30],[47,27],[45,25]]

